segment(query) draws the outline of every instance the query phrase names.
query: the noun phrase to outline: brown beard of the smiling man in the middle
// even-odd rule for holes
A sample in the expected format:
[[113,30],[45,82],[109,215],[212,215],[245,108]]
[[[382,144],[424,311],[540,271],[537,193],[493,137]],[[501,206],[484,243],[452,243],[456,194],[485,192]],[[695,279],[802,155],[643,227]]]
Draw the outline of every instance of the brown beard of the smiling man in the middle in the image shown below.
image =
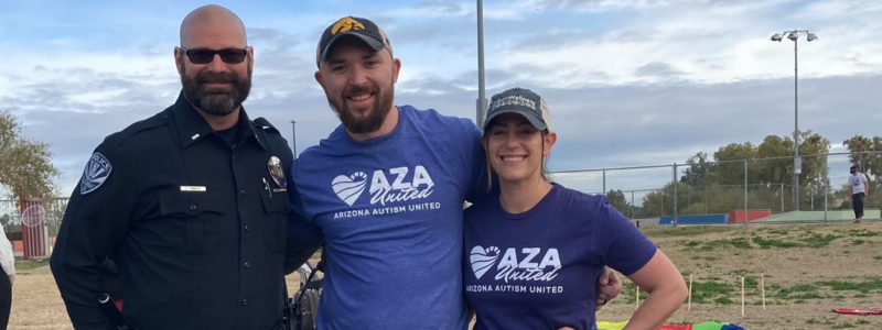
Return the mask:
[[[370,109],[367,110],[367,118],[357,118],[355,114],[353,114],[352,109],[346,106],[346,99],[348,99],[349,96],[359,94],[374,94],[374,102],[370,106]],[[389,114],[389,110],[392,108],[395,91],[392,90],[391,85],[386,88],[385,91],[380,91],[373,87],[362,86],[347,88],[343,92],[338,103],[332,99],[330,95],[326,97],[327,103],[331,105],[331,109],[334,109],[340,118],[340,121],[347,131],[356,134],[366,134],[376,132],[380,127],[383,127],[386,116]]]

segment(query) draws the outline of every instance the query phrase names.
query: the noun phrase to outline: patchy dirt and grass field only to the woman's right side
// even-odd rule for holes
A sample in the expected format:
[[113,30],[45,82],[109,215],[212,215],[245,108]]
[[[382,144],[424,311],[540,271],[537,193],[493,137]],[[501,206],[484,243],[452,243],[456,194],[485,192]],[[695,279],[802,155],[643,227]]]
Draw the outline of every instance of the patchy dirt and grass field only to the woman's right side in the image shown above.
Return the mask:
[[[686,274],[692,272],[693,285],[706,278],[731,285],[729,298],[733,304],[692,304],[684,306],[669,323],[697,323],[703,321],[733,322],[746,329],[882,329],[882,316],[851,316],[831,311],[833,308],[870,308],[882,306],[882,286],[856,290],[819,289],[820,298],[775,299],[773,287],[799,287],[825,280],[845,283],[882,283],[882,222],[838,224],[771,224],[720,228],[664,228],[645,229],[644,232]],[[719,232],[714,232],[718,231]],[[677,231],[681,231],[678,233]],[[702,233],[703,232],[703,233]],[[829,245],[819,248],[770,248],[752,249],[720,246],[713,244],[725,240],[765,238],[781,242],[800,242],[809,238],[832,239]],[[700,242],[692,245],[690,242]],[[763,274],[766,289],[766,308],[762,306],[762,290],[745,285],[744,316],[741,315],[741,276],[759,278]],[[628,284],[627,279],[624,279]],[[695,290],[693,290],[695,292]],[[635,295],[623,294],[598,312],[598,320],[621,322],[627,320],[636,309]],[[644,299],[644,298],[642,298]]]

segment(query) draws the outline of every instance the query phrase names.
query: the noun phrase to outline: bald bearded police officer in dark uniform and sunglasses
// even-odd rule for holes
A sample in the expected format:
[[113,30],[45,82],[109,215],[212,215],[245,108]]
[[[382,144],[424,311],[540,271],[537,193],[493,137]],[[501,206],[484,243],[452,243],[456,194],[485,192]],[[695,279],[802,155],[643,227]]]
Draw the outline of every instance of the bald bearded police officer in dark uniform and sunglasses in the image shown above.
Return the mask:
[[206,6],[181,25],[176,102],[107,136],[71,197],[51,267],[75,329],[116,329],[99,305],[108,257],[130,329],[281,329],[293,155],[251,121],[254,50]]

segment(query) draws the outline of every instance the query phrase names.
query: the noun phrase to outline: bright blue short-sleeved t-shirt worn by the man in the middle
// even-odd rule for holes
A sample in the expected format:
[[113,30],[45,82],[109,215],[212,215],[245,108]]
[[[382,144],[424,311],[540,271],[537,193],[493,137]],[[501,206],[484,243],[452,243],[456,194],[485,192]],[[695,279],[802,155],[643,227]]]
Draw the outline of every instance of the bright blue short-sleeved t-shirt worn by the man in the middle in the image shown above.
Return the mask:
[[292,167],[289,237],[324,239],[318,329],[463,329],[463,201],[486,190],[481,130],[399,107],[395,130],[338,127]]

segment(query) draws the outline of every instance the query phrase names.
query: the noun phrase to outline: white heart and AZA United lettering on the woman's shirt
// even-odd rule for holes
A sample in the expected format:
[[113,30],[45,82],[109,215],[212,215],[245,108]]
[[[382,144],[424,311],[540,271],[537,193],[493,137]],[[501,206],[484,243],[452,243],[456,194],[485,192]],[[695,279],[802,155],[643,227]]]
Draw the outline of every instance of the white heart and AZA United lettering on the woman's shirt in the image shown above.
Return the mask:
[[[499,258],[499,248],[476,245],[469,254],[472,272],[481,279],[496,265],[496,280],[544,280],[555,279],[560,271],[560,254],[555,248],[542,251],[540,248],[508,248]],[[498,261],[498,264],[496,262]],[[548,272],[546,272],[548,271]]]

